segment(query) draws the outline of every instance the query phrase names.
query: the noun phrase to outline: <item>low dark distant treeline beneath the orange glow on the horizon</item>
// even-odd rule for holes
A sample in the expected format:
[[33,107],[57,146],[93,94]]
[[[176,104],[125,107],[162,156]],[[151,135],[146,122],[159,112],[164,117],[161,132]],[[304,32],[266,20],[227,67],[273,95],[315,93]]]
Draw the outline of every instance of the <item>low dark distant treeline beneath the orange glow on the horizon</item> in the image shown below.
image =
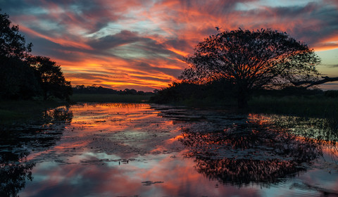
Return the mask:
[[74,94],[132,94],[132,95],[152,95],[151,91],[137,91],[135,89],[115,90],[101,86],[77,85],[73,87]]

